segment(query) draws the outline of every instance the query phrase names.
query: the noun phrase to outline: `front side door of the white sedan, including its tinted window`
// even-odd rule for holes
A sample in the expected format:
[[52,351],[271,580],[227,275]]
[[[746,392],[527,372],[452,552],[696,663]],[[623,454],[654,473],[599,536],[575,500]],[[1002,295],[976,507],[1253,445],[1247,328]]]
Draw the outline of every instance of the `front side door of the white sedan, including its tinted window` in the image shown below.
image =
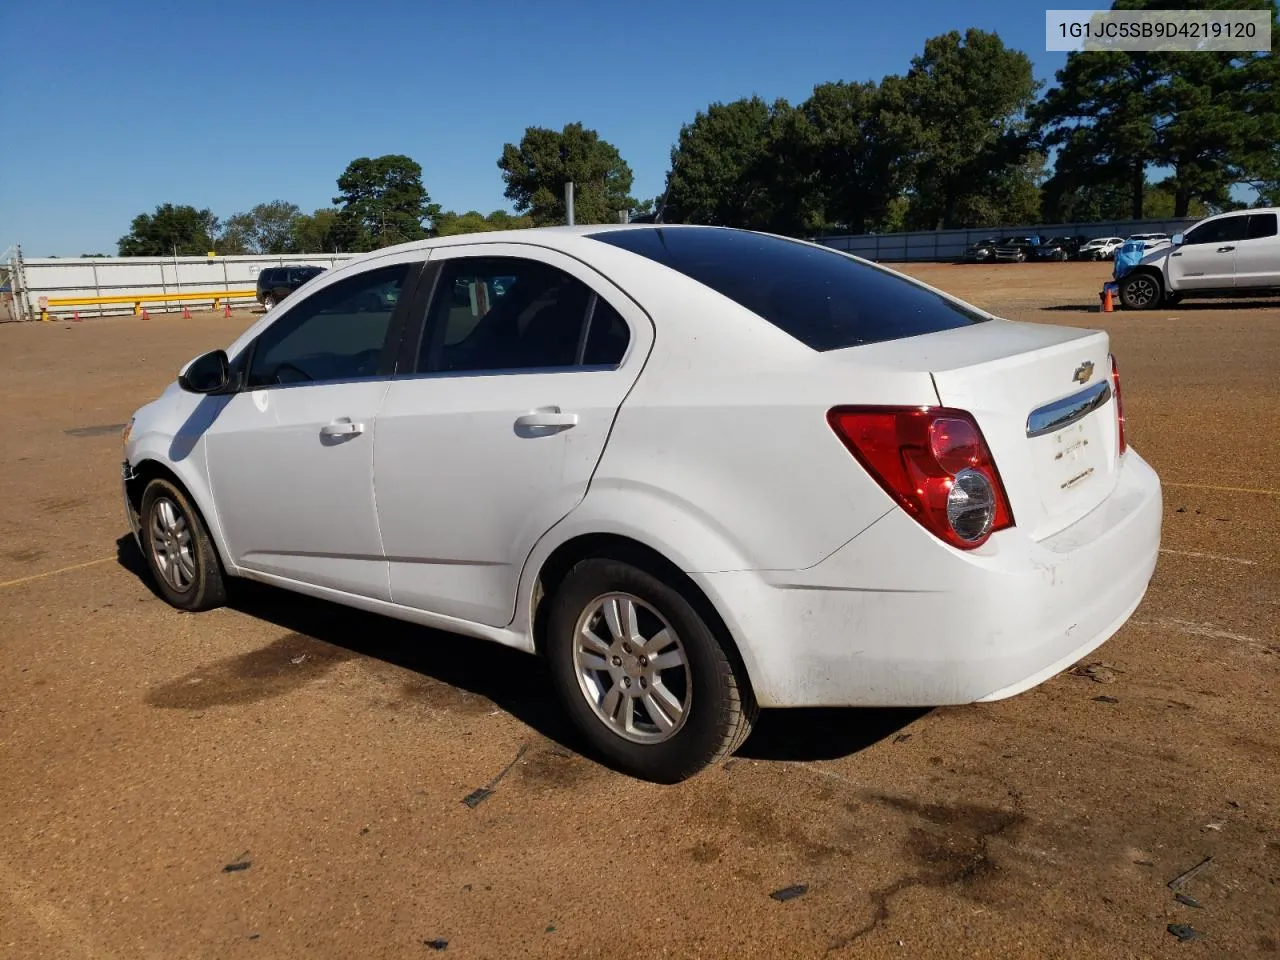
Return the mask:
[[238,566],[387,599],[374,419],[398,347],[398,294],[415,270],[403,257],[285,301],[247,348],[246,387],[205,440]]

